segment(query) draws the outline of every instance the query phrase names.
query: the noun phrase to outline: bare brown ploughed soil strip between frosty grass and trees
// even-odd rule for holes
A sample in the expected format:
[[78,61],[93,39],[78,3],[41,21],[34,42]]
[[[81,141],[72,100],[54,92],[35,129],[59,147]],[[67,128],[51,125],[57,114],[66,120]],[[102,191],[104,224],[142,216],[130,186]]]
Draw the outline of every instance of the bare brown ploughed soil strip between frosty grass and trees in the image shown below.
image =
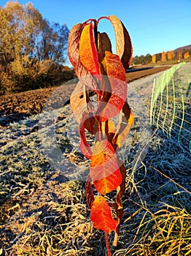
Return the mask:
[[[155,74],[168,68],[170,68],[170,66],[136,67],[130,70],[134,72],[127,72],[127,80],[129,83],[133,80]],[[66,86],[66,94],[63,96],[65,102],[69,100],[71,91],[74,90],[74,86],[74,84]],[[27,116],[41,113],[44,103],[55,89],[57,89],[57,87],[1,96],[0,127],[6,127],[12,121],[19,121]]]

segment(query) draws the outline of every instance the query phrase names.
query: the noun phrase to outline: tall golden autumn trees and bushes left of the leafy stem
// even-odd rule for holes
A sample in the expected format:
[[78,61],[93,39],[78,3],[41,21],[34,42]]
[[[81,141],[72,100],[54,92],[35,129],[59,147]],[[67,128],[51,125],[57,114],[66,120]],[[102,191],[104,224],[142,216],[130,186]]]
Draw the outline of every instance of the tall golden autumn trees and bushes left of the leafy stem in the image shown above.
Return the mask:
[[69,29],[50,23],[33,4],[0,5],[0,94],[55,86],[73,78],[67,66]]

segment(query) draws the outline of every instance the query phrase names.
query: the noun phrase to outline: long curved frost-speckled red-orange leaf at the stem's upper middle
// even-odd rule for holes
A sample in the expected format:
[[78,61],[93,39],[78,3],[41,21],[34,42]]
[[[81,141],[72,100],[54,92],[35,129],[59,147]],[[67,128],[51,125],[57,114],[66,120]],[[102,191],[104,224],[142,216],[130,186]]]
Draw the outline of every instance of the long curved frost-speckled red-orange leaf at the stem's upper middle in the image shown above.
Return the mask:
[[[104,67],[109,81],[104,89],[106,97],[104,95],[101,98],[101,101],[98,102],[98,110],[95,113],[95,118],[99,121],[106,121],[109,118],[117,116],[122,109],[128,94],[125,69],[122,66],[119,56],[106,51]],[[109,88],[110,86],[111,88]],[[109,93],[111,94],[110,97]]]

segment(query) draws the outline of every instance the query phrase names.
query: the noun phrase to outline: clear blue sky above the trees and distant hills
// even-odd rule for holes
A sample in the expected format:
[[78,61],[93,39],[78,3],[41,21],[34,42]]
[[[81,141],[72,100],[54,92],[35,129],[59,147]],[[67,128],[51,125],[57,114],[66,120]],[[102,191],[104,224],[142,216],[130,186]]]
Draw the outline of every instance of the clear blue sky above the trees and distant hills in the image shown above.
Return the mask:
[[[18,0],[26,4],[30,0]],[[71,29],[89,18],[116,15],[130,34],[133,56],[155,54],[191,45],[191,0],[31,0],[43,18],[66,23]],[[0,0],[1,7],[7,3]],[[101,20],[99,31],[106,31],[114,45],[109,21]],[[114,45],[115,47],[115,45]]]

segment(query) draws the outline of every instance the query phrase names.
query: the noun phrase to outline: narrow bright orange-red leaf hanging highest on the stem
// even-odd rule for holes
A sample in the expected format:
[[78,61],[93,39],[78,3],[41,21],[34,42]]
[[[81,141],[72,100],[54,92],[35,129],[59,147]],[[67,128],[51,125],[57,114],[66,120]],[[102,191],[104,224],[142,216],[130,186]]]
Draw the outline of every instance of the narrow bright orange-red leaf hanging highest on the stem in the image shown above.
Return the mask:
[[79,56],[82,64],[92,75],[99,75],[98,52],[93,37],[93,23],[87,24],[79,40]]

